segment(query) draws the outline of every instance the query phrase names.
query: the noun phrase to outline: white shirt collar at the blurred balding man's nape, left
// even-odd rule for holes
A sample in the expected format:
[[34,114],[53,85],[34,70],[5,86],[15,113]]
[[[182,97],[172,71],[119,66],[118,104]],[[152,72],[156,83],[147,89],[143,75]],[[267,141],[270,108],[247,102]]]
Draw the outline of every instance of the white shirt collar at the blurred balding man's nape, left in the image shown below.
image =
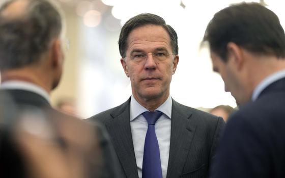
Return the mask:
[[41,95],[48,101],[48,103],[50,103],[49,94],[43,88],[30,82],[17,81],[17,80],[6,81],[1,83],[0,89],[8,89],[8,90],[18,89],[18,90],[31,91]]

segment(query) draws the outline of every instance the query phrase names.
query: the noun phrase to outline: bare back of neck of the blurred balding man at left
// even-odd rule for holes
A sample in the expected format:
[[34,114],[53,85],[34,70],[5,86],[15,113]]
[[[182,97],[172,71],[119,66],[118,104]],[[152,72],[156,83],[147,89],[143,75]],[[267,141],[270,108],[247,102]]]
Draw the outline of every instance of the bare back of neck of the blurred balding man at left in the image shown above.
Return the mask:
[[46,78],[42,77],[40,73],[32,70],[26,69],[12,69],[1,72],[1,82],[6,81],[23,81],[35,84],[43,88],[47,93],[50,93],[51,87],[49,87],[49,82]]

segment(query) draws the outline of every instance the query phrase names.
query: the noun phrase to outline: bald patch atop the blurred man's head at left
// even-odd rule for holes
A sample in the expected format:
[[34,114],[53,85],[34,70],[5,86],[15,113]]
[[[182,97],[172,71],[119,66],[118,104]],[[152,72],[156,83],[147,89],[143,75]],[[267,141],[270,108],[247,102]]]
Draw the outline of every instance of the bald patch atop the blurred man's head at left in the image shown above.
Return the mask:
[[7,19],[21,19],[26,16],[27,12],[27,0],[18,0],[10,5],[8,5],[3,12],[1,13],[1,16]]

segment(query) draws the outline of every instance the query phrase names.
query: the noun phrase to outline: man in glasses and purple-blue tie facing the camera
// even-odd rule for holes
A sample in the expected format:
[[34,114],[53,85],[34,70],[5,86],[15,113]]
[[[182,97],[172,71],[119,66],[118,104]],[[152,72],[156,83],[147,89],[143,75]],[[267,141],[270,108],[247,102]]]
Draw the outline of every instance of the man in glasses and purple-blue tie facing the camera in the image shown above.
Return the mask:
[[157,15],[139,14],[124,24],[119,49],[132,96],[90,120],[106,126],[122,177],[208,177],[224,122],[170,96],[179,62],[175,30]]

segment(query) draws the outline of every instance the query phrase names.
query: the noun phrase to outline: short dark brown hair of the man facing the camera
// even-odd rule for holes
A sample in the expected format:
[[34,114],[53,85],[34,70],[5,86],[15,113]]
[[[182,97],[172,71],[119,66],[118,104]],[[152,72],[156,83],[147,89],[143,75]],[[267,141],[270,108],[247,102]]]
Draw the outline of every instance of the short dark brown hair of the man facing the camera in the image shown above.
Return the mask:
[[163,27],[170,37],[170,44],[174,54],[178,54],[178,38],[175,30],[165,23],[165,20],[158,15],[144,13],[130,18],[123,26],[119,38],[119,49],[122,58],[126,57],[126,50],[128,47],[128,36],[136,28],[143,27],[149,24]]

